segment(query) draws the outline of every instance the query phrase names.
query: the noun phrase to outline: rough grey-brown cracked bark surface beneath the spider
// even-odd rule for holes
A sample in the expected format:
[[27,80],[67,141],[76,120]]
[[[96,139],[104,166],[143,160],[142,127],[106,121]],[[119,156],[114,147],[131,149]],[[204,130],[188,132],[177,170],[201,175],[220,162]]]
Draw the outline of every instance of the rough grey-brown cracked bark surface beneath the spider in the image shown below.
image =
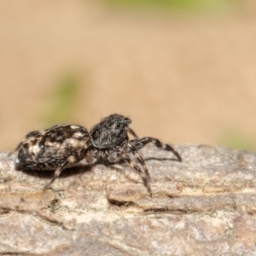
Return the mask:
[[207,145],[142,150],[129,165],[15,171],[0,153],[0,255],[256,255],[256,154]]

